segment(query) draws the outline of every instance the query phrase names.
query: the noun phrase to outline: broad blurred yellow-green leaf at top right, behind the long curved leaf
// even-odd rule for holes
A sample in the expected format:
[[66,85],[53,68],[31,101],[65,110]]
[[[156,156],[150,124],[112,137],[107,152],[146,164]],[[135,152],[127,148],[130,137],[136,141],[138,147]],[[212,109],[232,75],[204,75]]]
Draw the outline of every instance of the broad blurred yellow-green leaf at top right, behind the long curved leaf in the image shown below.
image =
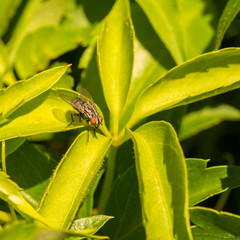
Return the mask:
[[214,11],[206,14],[212,7],[210,3],[202,0],[137,2],[177,64],[202,54],[210,44],[214,36],[211,26]]

